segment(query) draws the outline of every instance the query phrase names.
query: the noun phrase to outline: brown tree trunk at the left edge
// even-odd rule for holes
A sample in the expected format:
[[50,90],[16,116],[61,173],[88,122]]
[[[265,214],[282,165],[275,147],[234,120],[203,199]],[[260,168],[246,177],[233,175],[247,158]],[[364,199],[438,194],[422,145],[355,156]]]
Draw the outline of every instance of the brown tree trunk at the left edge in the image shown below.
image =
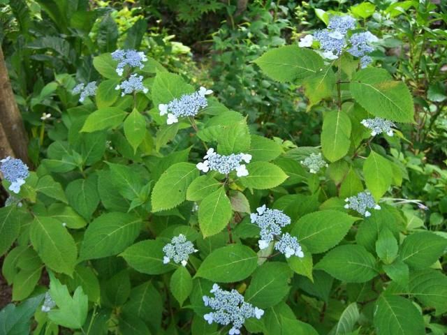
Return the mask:
[[27,146],[27,132],[15,102],[3,50],[0,47],[0,159],[14,156],[30,165]]

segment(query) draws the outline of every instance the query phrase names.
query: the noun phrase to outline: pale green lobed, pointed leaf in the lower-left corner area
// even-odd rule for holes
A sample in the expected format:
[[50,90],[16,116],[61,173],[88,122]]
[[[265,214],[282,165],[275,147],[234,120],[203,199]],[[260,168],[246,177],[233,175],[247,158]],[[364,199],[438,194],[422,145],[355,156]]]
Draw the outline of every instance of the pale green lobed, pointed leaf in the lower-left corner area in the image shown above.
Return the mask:
[[71,297],[66,285],[62,285],[50,273],[50,295],[58,307],[48,312],[48,318],[52,322],[72,329],[80,329],[85,324],[89,299],[81,287],[77,288]]

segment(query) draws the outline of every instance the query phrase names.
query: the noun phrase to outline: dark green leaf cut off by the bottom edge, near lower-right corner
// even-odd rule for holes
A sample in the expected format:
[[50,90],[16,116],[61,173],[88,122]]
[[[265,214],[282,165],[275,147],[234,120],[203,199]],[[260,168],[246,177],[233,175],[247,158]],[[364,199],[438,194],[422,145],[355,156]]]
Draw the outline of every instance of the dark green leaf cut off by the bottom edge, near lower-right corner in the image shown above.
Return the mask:
[[377,335],[425,334],[424,320],[418,308],[402,297],[381,295],[374,308]]

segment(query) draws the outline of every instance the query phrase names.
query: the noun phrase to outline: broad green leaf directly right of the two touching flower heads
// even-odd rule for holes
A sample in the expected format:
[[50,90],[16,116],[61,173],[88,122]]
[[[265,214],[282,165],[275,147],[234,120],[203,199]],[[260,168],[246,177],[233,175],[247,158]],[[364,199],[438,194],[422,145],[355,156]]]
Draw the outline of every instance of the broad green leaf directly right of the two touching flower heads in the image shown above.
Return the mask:
[[316,211],[302,216],[293,225],[291,234],[298,237],[300,244],[305,245],[310,253],[324,253],[339,244],[358,220],[360,218],[341,211]]

